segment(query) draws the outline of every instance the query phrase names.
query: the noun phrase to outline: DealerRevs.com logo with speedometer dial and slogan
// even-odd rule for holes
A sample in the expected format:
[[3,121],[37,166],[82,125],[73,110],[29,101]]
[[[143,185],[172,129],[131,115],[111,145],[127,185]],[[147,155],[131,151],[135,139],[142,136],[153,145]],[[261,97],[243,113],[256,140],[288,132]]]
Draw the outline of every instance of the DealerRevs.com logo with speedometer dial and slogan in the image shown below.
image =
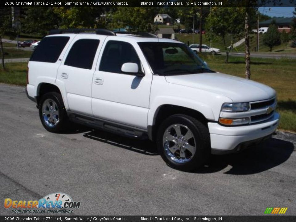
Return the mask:
[[11,208],[13,213],[72,213],[79,208],[80,202],[74,202],[65,193],[52,193],[39,200],[4,199],[4,208]]

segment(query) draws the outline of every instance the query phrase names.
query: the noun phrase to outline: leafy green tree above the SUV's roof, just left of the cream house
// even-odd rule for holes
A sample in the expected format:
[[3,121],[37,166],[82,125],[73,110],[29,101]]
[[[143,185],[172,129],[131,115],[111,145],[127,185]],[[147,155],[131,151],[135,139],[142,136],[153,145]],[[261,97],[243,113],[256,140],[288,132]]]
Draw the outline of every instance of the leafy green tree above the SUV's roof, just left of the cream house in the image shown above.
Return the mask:
[[155,32],[157,26],[154,17],[158,14],[159,7],[118,7],[113,14],[113,28],[127,28],[129,31]]

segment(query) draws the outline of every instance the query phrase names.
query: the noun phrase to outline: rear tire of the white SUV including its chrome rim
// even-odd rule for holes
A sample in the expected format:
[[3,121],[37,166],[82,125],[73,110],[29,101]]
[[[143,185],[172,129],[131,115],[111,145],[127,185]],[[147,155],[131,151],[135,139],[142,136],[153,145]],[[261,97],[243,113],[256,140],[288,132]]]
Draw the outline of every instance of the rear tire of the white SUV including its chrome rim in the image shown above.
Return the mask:
[[60,133],[68,125],[68,116],[60,93],[48,92],[39,103],[39,117],[44,128],[52,133]]

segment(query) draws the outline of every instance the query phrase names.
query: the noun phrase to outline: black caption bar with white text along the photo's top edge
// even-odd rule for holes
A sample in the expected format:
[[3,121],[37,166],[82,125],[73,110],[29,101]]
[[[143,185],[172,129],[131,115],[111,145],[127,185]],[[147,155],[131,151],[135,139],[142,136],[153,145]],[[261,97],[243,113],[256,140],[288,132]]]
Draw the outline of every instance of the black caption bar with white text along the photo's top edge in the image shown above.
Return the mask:
[[208,6],[296,6],[296,0],[164,0],[164,1],[149,1],[149,0],[2,0],[0,6],[29,6],[29,7],[208,7]]

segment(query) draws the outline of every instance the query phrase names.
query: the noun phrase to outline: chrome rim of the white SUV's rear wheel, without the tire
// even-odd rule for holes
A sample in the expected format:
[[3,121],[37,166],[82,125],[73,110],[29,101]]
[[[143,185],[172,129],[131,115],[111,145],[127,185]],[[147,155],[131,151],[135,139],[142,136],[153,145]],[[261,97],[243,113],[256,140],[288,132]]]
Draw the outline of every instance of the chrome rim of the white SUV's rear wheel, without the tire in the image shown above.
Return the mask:
[[46,99],[42,105],[42,116],[44,123],[49,127],[54,127],[59,123],[59,109],[55,101]]

